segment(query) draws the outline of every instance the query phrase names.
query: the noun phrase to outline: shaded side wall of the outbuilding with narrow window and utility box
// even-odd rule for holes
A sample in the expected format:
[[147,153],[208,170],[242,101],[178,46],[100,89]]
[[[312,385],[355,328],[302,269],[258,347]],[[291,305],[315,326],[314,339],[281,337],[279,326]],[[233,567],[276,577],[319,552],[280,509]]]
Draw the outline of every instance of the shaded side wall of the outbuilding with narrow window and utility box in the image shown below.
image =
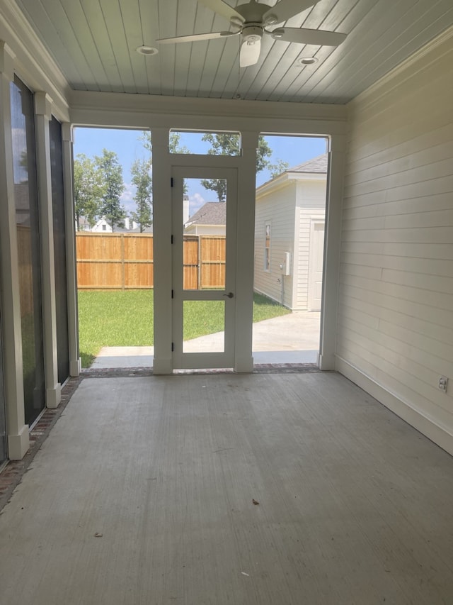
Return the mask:
[[[270,298],[292,306],[293,271],[282,277],[280,264],[285,260],[285,252],[291,252],[294,263],[296,185],[288,183],[274,192],[258,197],[255,218],[255,277],[254,288]],[[271,225],[270,271],[264,270],[265,225]],[[282,300],[282,280],[285,296]]]

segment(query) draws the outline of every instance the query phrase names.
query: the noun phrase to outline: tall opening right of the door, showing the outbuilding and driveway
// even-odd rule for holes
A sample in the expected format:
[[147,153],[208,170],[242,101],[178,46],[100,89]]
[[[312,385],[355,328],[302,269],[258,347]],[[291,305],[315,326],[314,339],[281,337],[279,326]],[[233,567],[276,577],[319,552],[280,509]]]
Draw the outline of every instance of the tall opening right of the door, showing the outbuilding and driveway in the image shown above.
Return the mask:
[[256,162],[255,363],[317,363],[326,217],[326,139],[260,135]]

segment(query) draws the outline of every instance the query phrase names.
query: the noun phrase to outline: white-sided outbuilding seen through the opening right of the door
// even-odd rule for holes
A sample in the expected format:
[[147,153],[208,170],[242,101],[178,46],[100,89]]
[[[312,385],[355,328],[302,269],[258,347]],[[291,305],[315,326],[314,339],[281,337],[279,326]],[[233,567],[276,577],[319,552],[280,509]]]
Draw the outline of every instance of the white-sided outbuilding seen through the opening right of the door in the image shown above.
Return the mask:
[[256,190],[257,292],[289,309],[321,310],[327,154]]

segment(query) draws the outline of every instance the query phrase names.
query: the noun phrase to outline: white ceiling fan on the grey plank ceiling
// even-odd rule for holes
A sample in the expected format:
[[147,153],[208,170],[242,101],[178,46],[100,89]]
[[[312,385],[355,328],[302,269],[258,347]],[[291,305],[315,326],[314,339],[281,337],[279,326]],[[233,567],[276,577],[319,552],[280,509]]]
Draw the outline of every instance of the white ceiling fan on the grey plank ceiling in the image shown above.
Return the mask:
[[270,35],[275,40],[316,46],[338,46],[346,38],[345,33],[335,31],[287,27],[268,29],[277,25],[277,23],[282,23],[294,15],[302,13],[309,6],[314,6],[319,0],[279,0],[274,6],[250,0],[247,4],[239,4],[236,8],[229,6],[223,0],[198,1],[200,4],[207,6],[207,8],[212,9],[215,13],[227,18],[234,31],[180,35],[176,36],[176,38],[160,38],[156,41],[161,44],[171,44],[214,40],[215,38],[231,38],[234,35],[241,35],[239,65],[241,67],[248,67],[258,62],[263,34]]

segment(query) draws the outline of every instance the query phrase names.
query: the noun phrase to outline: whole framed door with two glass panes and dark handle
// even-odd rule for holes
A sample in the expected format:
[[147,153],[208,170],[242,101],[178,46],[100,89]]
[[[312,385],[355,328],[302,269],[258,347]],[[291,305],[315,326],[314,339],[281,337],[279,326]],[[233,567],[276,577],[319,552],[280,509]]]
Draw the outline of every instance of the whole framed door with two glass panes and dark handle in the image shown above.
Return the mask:
[[173,168],[174,367],[233,367],[236,169]]

